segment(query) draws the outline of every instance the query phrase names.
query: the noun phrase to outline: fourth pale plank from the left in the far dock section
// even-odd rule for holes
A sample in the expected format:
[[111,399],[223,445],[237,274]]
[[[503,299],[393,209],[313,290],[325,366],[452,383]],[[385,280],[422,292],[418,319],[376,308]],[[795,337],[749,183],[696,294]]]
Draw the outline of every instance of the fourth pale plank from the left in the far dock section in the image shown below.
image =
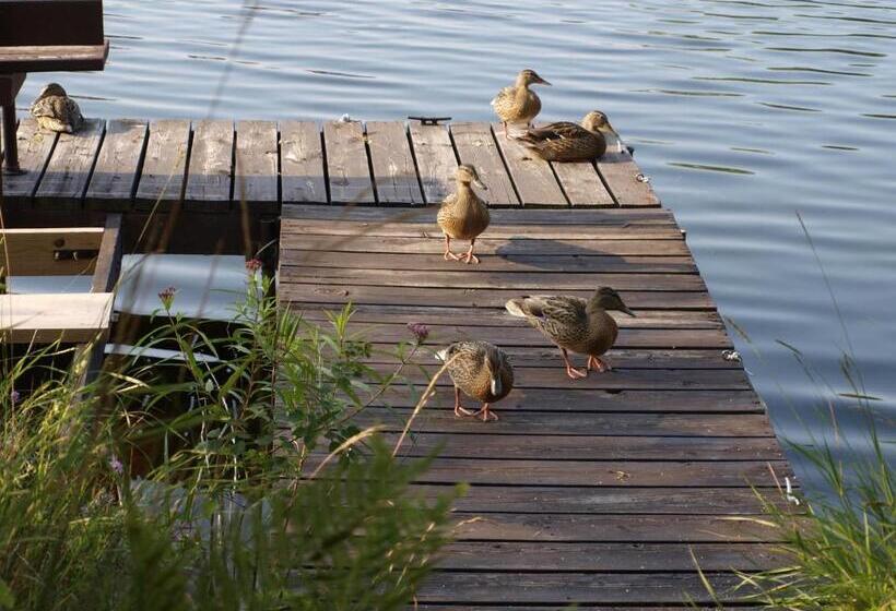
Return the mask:
[[189,121],[166,119],[150,123],[134,208],[167,212],[182,200],[189,142]]

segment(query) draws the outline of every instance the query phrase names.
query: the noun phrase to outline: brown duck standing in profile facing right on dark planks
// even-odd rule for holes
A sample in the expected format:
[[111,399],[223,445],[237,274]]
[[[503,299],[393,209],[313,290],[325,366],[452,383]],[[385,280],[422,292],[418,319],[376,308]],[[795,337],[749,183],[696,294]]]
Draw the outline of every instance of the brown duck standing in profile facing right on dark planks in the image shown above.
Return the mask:
[[[557,345],[566,364],[566,374],[573,380],[588,378],[592,367],[600,372],[611,369],[601,356],[616,342],[618,327],[606,312],[617,310],[629,316],[635,315],[610,287],[599,288],[588,301],[578,297],[537,295],[510,299],[505,308],[510,314],[529,321]],[[588,355],[585,371],[573,367],[567,350]]]

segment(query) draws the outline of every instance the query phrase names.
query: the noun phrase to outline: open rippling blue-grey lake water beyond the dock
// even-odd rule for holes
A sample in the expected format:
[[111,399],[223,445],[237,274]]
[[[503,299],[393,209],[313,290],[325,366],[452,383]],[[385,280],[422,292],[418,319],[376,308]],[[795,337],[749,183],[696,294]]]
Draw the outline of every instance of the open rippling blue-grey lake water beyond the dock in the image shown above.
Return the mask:
[[248,4],[106,0],[108,68],[58,79],[107,118],[491,120],[533,68],[554,84],[541,119],[600,108],[637,147],[779,434],[861,444],[856,408],[829,405],[850,352],[892,443],[893,0]]

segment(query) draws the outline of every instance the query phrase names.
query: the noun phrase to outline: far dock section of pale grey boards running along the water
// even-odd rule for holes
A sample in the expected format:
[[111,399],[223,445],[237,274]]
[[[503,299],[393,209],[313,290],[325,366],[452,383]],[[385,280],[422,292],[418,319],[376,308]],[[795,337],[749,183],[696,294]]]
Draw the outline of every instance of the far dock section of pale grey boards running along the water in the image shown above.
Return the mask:
[[17,131],[24,175],[5,201],[42,212],[239,212],[286,203],[437,205],[457,165],[474,166],[493,208],[656,207],[627,152],[547,163],[486,122],[91,119],[74,134]]

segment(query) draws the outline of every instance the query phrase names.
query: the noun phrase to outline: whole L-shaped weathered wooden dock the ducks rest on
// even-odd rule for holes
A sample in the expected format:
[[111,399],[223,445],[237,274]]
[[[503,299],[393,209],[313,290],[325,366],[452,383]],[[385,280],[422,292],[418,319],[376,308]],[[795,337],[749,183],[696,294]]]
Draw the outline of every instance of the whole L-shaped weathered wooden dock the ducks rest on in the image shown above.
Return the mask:
[[[27,172],[5,179],[8,225],[115,213],[127,250],[145,225],[173,225],[169,251],[205,254],[249,255],[272,238],[281,303],[309,320],[351,302],[377,347],[425,323],[433,348],[481,338],[507,349],[517,387],[495,406],[500,421],[455,419],[441,380],[403,446],[405,459],[443,447],[418,482],[426,493],[471,483],[417,609],[709,604],[697,566],[732,600],[732,571],[776,565],[778,534],[751,520],[762,512],[751,487],[774,494],[789,466],[742,366],[722,356],[731,342],[683,232],[628,153],[549,164],[481,122],[91,120],[56,135],[25,119],[17,137]],[[443,260],[431,207],[458,163],[476,167],[500,208],[474,266]],[[618,318],[613,372],[571,382],[503,306],[601,285],[638,316]],[[363,423],[396,436],[416,398],[397,388]]]

